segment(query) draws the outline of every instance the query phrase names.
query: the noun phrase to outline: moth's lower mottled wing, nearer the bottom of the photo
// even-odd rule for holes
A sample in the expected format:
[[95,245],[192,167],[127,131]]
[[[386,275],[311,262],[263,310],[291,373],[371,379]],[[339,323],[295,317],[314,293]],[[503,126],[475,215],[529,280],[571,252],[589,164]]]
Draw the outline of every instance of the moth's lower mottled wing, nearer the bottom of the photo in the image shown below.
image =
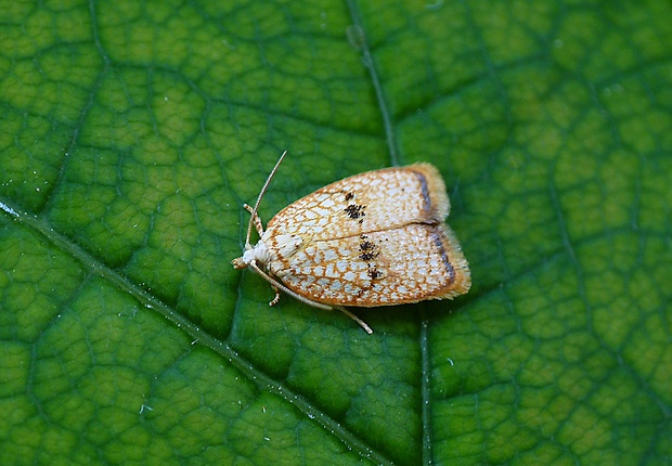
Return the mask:
[[270,266],[294,292],[334,306],[451,298],[466,293],[470,285],[460,245],[442,223],[314,241]]

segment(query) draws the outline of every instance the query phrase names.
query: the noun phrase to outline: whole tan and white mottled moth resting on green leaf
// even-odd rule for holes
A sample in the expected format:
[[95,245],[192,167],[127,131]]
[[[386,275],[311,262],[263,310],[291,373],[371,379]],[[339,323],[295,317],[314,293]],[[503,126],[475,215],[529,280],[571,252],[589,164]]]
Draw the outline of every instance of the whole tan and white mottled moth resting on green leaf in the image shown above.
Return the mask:
[[[250,219],[235,269],[250,268],[280,289],[320,309],[405,305],[463,295],[469,266],[444,221],[445,185],[430,164],[384,168],[336,181],[282,209],[267,224],[257,213],[282,154]],[[259,242],[249,243],[253,224]]]

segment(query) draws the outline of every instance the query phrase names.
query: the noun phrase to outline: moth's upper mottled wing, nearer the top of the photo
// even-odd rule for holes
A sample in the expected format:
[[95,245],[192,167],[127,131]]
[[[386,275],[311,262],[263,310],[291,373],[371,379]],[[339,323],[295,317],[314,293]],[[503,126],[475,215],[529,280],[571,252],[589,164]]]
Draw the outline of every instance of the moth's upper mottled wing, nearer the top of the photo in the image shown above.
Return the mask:
[[439,171],[429,164],[386,168],[332,183],[273,217],[264,237],[334,240],[411,223],[437,223],[450,204]]

